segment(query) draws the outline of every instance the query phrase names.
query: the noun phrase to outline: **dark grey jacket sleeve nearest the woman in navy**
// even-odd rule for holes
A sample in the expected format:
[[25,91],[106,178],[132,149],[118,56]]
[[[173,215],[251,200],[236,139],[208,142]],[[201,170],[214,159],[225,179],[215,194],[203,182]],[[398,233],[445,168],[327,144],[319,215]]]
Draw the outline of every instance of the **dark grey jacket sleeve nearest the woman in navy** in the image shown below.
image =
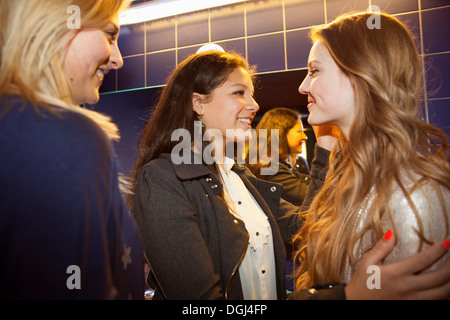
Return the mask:
[[132,212],[165,299],[222,298],[196,210],[169,161],[156,159],[141,169]]

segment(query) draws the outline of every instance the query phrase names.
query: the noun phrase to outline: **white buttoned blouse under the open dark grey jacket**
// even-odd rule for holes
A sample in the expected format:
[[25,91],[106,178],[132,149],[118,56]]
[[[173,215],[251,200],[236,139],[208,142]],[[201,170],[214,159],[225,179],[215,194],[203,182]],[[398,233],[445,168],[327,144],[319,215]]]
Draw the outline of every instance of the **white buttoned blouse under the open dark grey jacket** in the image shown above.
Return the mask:
[[242,291],[246,300],[276,300],[275,255],[272,229],[267,216],[241,178],[231,170],[234,160],[225,158],[218,165],[224,195],[231,214],[244,221],[250,238],[239,267]]

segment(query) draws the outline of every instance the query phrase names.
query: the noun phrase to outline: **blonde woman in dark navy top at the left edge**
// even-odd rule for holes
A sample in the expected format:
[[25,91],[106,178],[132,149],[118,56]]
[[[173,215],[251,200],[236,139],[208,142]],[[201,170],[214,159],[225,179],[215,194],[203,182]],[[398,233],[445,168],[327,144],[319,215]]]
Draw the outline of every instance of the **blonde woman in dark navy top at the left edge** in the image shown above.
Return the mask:
[[97,102],[104,75],[122,66],[125,5],[0,2],[2,299],[143,298],[142,243],[112,148],[117,128],[79,106]]

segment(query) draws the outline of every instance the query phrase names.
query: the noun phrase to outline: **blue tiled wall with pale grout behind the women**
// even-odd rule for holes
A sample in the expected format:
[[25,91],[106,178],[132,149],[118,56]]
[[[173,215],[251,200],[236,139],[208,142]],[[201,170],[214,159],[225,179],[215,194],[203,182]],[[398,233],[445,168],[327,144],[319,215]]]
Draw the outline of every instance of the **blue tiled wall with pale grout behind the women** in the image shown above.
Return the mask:
[[[241,53],[259,73],[305,69],[310,28],[369,5],[412,28],[427,69],[425,118],[450,135],[450,0],[253,0],[123,26],[124,67],[108,74],[101,88],[102,96],[115,92],[116,97],[102,97],[97,109],[116,119],[102,101],[125,99],[124,90],[164,85],[180,61],[208,42]],[[129,129],[135,128],[121,128]]]

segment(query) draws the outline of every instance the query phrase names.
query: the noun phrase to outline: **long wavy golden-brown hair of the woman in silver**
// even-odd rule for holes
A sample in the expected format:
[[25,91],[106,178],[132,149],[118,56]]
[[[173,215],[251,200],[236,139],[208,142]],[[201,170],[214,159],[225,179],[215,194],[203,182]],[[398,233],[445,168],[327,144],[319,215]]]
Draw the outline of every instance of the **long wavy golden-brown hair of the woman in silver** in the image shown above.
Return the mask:
[[[429,242],[411,200],[412,191],[402,183],[404,174],[414,182],[413,190],[431,185],[448,215],[440,189],[450,185],[447,140],[441,130],[419,119],[422,66],[413,38],[401,22],[383,13],[381,29],[369,29],[371,15],[345,15],[311,34],[350,77],[356,114],[348,140],[341,136],[331,153],[324,186],[295,237],[302,243],[296,255],[298,289],[342,281],[347,257],[351,267],[356,264],[353,248],[361,235],[372,230],[381,238],[381,218],[392,214],[388,204],[394,185],[418,218],[422,244]],[[370,223],[355,234],[358,211],[372,187],[376,198],[368,211]]]

